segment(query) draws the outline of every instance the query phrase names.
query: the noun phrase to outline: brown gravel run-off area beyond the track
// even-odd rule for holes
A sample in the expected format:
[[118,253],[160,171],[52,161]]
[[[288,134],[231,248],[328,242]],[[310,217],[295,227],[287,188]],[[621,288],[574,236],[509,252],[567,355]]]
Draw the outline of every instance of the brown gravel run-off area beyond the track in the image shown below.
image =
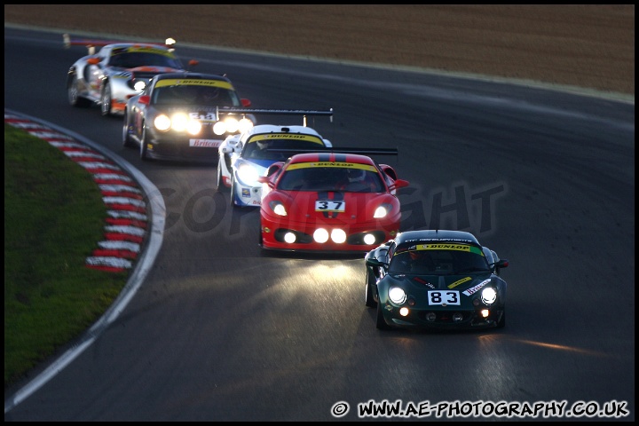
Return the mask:
[[634,4],[5,4],[4,22],[635,95]]

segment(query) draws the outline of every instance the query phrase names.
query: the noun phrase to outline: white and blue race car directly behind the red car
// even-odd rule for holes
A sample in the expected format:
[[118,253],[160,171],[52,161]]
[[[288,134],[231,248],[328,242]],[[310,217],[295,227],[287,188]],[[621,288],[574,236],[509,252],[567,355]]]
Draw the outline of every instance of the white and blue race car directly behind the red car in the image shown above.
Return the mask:
[[225,138],[218,147],[217,191],[230,191],[233,207],[260,206],[263,184],[257,181],[257,177],[264,176],[273,162],[285,161],[296,152],[322,151],[332,147],[331,142],[317,130],[305,125],[306,115],[332,116],[332,109],[286,110],[275,114],[304,114],[304,125],[258,124],[241,134]]

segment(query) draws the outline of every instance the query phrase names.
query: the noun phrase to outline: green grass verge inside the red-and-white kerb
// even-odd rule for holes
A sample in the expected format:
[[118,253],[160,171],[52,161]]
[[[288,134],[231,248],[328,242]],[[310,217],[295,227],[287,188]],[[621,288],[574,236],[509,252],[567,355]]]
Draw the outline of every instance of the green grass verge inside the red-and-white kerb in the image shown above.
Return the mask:
[[91,173],[4,124],[4,388],[79,337],[130,272],[85,261],[104,239],[106,205]]

